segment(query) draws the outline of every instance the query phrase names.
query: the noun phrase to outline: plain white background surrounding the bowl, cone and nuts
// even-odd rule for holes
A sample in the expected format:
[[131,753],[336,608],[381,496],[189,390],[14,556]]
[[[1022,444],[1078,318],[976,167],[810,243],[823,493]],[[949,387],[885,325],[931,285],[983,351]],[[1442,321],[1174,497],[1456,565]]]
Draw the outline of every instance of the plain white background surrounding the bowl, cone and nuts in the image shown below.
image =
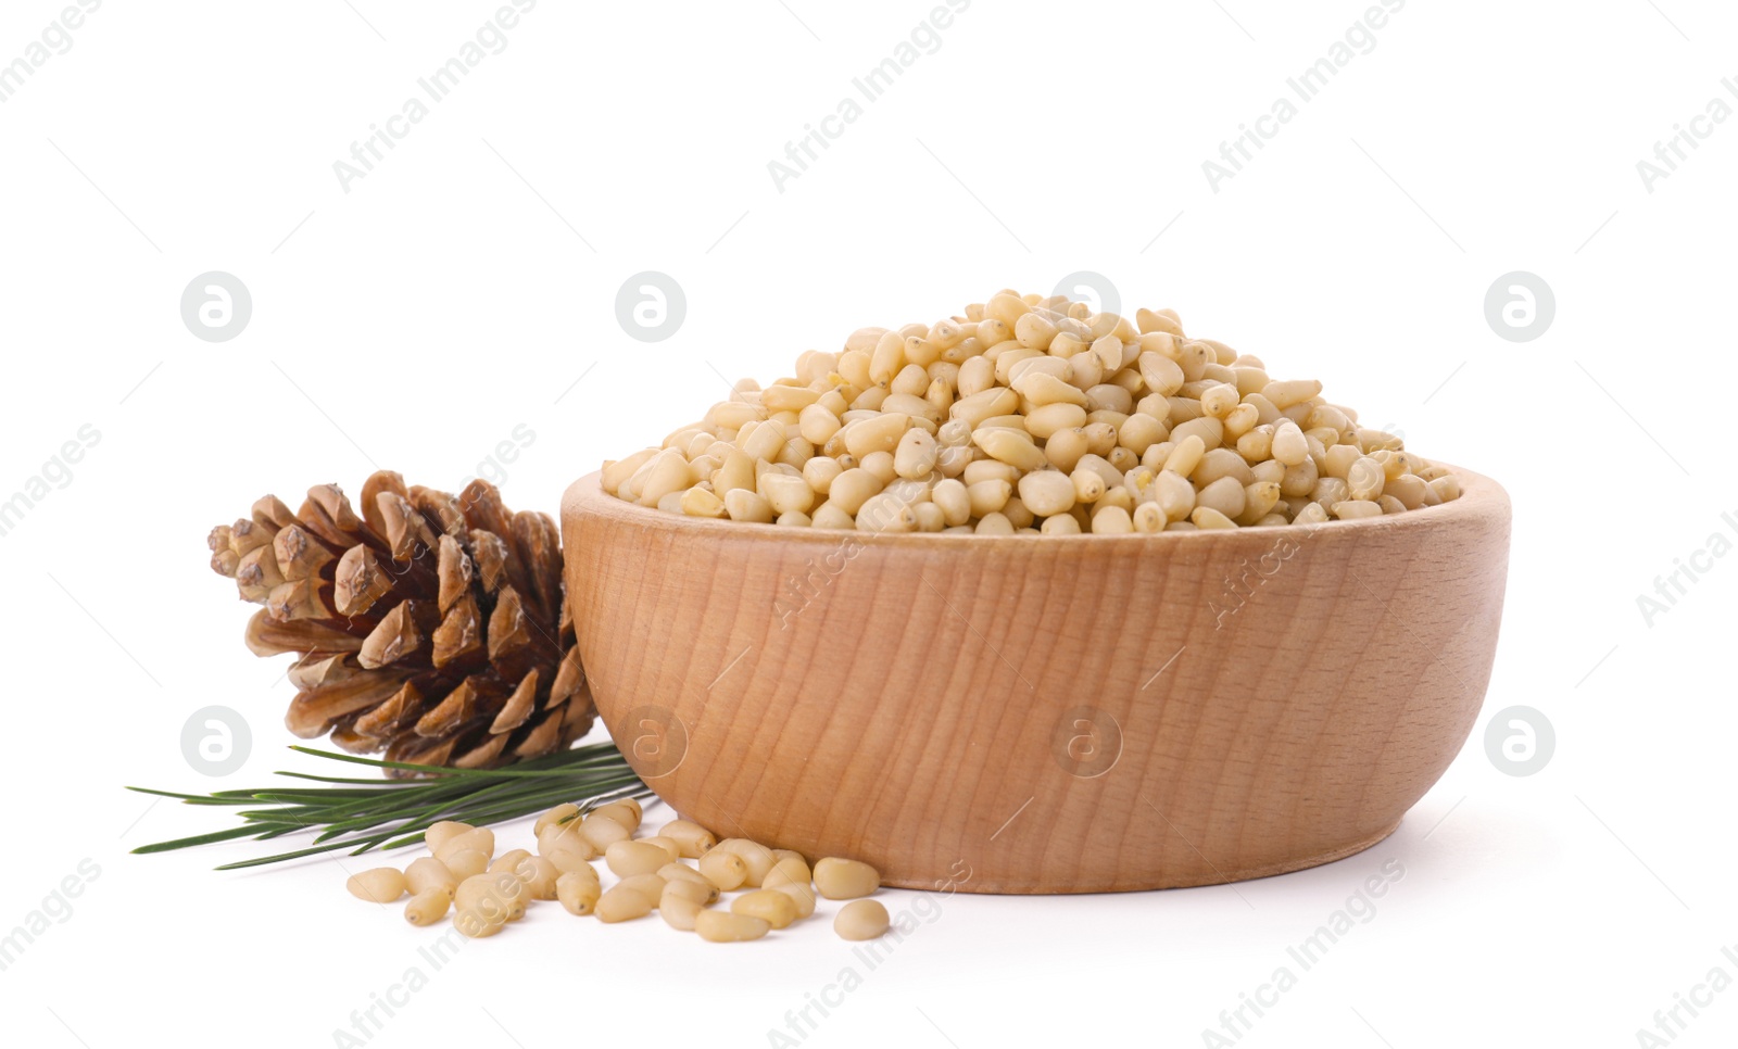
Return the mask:
[[[9,2],[0,63],[59,7]],[[311,762],[282,749],[292,689],[240,644],[210,524],[375,465],[455,486],[520,424],[506,498],[554,512],[601,459],[699,417],[714,368],[773,379],[859,325],[1081,269],[1509,488],[1484,716],[1364,854],[1236,887],[956,896],[803,1044],[1201,1046],[1387,860],[1406,874],[1376,917],[1239,1044],[1649,1044],[1656,1009],[1717,966],[1738,978],[1738,557],[1698,556],[1712,568],[1651,625],[1635,601],[1712,533],[1738,540],[1738,120],[1700,125],[1651,193],[1635,167],[1710,99],[1738,106],[1738,14],[1411,0],[1215,193],[1203,160],[1364,3],[977,0],[780,193],[768,162],[930,7],[542,0],[348,193],[334,162],[494,3],[111,0],[0,102],[0,498],[63,476],[45,464],[80,426],[101,434],[0,538],[0,933],[82,860],[101,870],[0,973],[9,1044],[330,1046],[429,969],[438,931],[346,896],[334,861],[127,854],[222,813],[123,783]],[[657,344],[614,307],[648,269],[687,294]],[[207,271],[252,292],[229,342],[179,316]],[[1510,271],[1556,294],[1531,342],[1484,318]],[[179,743],[212,703],[254,735],[222,780]],[[1510,705],[1556,726],[1536,775],[1486,755]],[[368,1044],[765,1046],[850,962],[819,920],[714,948],[655,919],[534,917],[429,973]],[[1679,1016],[1675,1044],[1729,1046],[1738,988]]]

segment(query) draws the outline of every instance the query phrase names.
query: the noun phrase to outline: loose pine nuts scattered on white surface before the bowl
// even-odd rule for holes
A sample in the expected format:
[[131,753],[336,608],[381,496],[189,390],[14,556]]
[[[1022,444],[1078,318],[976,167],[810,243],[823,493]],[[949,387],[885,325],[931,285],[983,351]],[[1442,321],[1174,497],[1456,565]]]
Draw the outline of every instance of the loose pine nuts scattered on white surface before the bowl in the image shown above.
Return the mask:
[[[845,901],[833,915],[833,929],[845,940],[874,940],[890,926],[886,907],[867,900],[881,884],[867,863],[824,856],[810,868],[799,853],[742,837],[718,841],[688,820],[634,837],[640,816],[640,802],[631,797],[589,811],[560,804],[532,828],[535,853],[499,854],[495,832],[487,827],[434,823],[424,832],[431,854],[403,870],[365,870],[346,887],[381,905],[408,894],[405,920],[412,926],[434,924],[450,912],[454,927],[471,938],[501,933],[521,920],[530,903],[544,900],[607,924],[655,910],[673,929],[713,943],[760,940],[812,917],[819,900]],[[603,860],[615,879],[608,889],[594,860]],[[721,901],[726,894],[728,905]]]

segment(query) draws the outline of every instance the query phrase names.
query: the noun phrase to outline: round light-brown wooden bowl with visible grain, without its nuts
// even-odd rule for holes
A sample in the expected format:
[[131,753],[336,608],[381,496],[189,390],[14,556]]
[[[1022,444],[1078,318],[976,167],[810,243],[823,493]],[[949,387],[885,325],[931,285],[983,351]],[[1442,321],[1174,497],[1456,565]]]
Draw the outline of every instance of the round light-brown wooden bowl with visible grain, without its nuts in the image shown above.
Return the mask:
[[1509,497],[1321,526],[866,535],[567,490],[579,650],[627,761],[720,837],[890,886],[1100,893],[1338,860],[1484,698]]

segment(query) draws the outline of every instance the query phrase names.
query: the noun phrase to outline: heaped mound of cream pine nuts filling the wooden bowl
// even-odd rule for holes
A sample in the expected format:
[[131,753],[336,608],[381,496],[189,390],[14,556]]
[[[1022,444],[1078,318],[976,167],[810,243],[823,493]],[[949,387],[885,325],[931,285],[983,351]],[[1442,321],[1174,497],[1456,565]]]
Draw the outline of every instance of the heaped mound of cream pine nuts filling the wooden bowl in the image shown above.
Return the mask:
[[977,535],[1321,524],[1460,495],[1321,382],[1272,379],[1175,311],[1012,290],[742,380],[601,485],[693,518]]

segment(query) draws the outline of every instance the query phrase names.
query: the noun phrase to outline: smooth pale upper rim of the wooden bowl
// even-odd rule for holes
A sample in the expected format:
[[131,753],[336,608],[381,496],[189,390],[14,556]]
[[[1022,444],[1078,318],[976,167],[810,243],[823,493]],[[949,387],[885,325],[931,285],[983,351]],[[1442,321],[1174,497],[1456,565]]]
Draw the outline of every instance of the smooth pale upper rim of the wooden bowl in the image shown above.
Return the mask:
[[1469,519],[1486,519],[1491,516],[1509,516],[1509,493],[1495,479],[1448,464],[1441,460],[1430,460],[1434,465],[1446,467],[1455,476],[1460,478],[1460,497],[1434,507],[1420,507],[1416,511],[1406,511],[1403,514],[1382,514],[1378,518],[1359,518],[1352,521],[1330,519],[1317,524],[1265,524],[1265,526],[1237,526],[1237,528],[1206,528],[1196,531],[1133,531],[1123,535],[1095,535],[1090,531],[1067,533],[1067,535],[965,535],[965,533],[940,533],[940,531],[857,531],[845,528],[793,528],[789,524],[761,524],[754,521],[728,521],[718,518],[690,518],[685,514],[667,514],[657,507],[640,505],[636,502],[627,502],[617,498],[603,490],[603,471],[593,471],[572,485],[561,495],[561,518],[567,519],[570,511],[586,509],[600,518],[612,518],[617,521],[638,524],[652,531],[683,531],[683,533],[706,533],[714,531],[718,537],[742,537],[742,538],[779,538],[784,542],[812,542],[817,545],[836,547],[845,537],[853,537],[862,544],[881,545],[881,547],[958,547],[959,544],[985,544],[985,545],[1008,545],[1008,544],[1043,544],[1043,549],[1086,549],[1091,545],[1137,545],[1137,544],[1211,544],[1211,542],[1237,542],[1248,540],[1250,537],[1258,537],[1260,542],[1272,544],[1286,537],[1307,537],[1323,535],[1363,535],[1371,531],[1390,531],[1390,530],[1413,530],[1413,528],[1441,528],[1453,526]]

